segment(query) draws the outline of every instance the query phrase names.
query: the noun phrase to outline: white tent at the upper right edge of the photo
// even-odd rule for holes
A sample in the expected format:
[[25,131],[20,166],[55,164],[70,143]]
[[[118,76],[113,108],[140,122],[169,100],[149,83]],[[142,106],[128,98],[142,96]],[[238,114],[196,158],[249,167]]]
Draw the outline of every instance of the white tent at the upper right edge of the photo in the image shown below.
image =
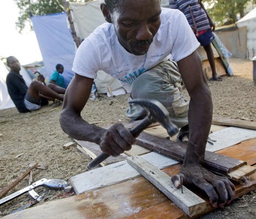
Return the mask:
[[251,60],[256,56],[256,8],[237,21],[236,26],[247,27],[247,58]]

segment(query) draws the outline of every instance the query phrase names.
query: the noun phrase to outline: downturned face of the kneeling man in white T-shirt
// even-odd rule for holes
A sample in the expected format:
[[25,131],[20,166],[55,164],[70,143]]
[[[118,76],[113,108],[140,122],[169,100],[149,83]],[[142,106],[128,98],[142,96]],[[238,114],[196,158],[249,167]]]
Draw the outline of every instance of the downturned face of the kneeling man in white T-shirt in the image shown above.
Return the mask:
[[147,53],[161,24],[159,0],[121,0],[111,19],[120,44],[134,55]]

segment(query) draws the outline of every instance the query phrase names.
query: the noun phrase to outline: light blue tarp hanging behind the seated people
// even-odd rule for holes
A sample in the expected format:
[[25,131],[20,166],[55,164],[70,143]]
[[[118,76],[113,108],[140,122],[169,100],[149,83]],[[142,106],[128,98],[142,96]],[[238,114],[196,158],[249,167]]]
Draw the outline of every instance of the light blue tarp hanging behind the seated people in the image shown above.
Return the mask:
[[46,75],[54,72],[56,64],[64,66],[62,73],[66,86],[73,78],[71,68],[75,56],[75,43],[67,27],[66,13],[32,16],[34,32],[43,57]]

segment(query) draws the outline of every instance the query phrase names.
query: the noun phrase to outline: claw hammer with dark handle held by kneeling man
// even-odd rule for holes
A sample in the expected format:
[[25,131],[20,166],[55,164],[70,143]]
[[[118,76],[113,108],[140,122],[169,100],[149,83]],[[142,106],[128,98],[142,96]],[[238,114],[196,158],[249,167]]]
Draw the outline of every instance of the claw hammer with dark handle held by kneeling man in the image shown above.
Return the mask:
[[[170,137],[179,131],[178,127],[171,122],[169,112],[167,111],[165,106],[162,105],[159,101],[151,99],[133,99],[130,100],[129,103],[137,103],[148,111],[148,115],[135,127],[130,129],[133,137],[137,137],[139,133],[141,133],[144,129],[146,129],[150,124],[154,122],[159,122],[160,125],[166,128],[167,133],[168,135],[170,135]],[[109,156],[110,155],[108,155],[107,153],[101,153],[87,165],[88,169],[93,169],[98,164],[107,159]]]

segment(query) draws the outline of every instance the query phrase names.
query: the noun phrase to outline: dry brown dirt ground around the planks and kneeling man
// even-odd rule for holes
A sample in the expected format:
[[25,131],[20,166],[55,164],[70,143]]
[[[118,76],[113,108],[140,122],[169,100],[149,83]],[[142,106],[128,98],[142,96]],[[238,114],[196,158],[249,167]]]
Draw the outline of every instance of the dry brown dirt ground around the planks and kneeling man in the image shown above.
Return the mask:
[[[224,76],[221,82],[208,82],[212,91],[214,116],[256,121],[256,86],[252,79],[252,62],[235,58],[229,61],[235,76]],[[187,96],[185,91],[184,95]],[[88,122],[100,121],[97,125],[101,127],[119,121],[129,122],[125,116],[127,97],[128,94],[89,100],[82,116]],[[71,176],[86,171],[88,158],[75,146],[69,149],[62,147],[74,140],[63,133],[59,124],[60,113],[61,106],[53,102],[27,114],[18,113],[16,108],[0,111],[0,190],[22,175],[33,162],[48,164],[47,169],[33,170],[33,182],[42,178],[69,182]],[[26,186],[28,176],[8,194]],[[40,203],[70,196],[45,187],[36,191],[44,196]],[[0,217],[30,200],[30,196],[24,194],[1,205]],[[202,218],[256,218],[256,192],[236,199],[224,209],[214,210]]]

